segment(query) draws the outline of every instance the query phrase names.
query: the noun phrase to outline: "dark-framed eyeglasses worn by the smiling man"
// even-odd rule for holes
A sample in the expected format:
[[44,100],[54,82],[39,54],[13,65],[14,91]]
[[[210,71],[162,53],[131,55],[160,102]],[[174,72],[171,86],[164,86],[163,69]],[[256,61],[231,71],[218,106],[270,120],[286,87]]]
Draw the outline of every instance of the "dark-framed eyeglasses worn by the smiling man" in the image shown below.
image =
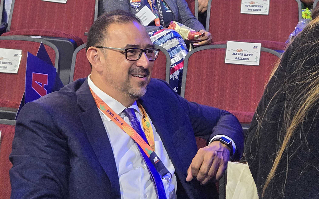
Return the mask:
[[140,48],[112,48],[112,47],[105,47],[105,46],[96,46],[96,48],[107,48],[107,49],[114,49],[114,50],[123,50],[125,51],[125,57],[127,60],[136,61],[141,58],[142,53],[145,53],[148,60],[154,61],[157,59],[159,55],[159,49],[157,48],[147,48],[147,49],[140,49]]

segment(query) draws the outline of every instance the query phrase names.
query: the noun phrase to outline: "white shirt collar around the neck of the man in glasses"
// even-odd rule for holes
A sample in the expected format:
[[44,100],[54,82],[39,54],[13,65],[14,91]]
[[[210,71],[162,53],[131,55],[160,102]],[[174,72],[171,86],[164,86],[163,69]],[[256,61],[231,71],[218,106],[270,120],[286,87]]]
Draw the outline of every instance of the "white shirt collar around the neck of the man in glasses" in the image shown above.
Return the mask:
[[[114,99],[113,97],[109,96],[108,94],[106,94],[105,92],[103,92],[101,89],[99,89],[97,86],[95,86],[95,84],[92,82],[91,80],[91,75],[88,76],[87,78],[87,83],[89,84],[89,87],[93,90],[93,92],[100,97],[101,100],[103,100],[103,102],[105,102],[106,104],[108,104],[108,106],[116,113],[116,114],[120,114],[124,109],[126,109],[126,107],[121,104],[119,101],[117,101],[116,99]],[[136,101],[128,108],[133,108],[135,111],[137,111],[139,113],[140,116],[142,116],[142,113],[140,111],[140,109],[137,106]],[[104,113],[103,113],[104,114]],[[111,119],[109,117],[106,117],[108,121],[111,121]]]

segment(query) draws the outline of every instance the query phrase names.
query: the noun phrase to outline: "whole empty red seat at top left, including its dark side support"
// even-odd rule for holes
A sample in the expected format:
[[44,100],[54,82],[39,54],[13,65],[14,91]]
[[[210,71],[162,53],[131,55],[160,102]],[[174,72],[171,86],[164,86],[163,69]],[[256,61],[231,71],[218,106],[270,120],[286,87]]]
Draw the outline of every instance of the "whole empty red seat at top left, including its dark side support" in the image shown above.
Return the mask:
[[13,0],[8,35],[41,36],[60,52],[60,79],[69,82],[74,50],[87,40],[97,18],[98,0],[68,0],[66,4],[48,1]]

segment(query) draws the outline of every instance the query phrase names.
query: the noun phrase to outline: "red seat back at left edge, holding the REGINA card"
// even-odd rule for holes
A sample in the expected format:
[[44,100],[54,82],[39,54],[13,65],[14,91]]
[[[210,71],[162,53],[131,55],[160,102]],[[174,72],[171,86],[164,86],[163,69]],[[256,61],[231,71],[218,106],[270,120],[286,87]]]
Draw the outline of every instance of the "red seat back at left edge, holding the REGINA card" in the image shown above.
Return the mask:
[[0,73],[0,103],[8,105],[8,108],[19,108],[26,83],[27,52],[36,55],[41,42],[44,44],[55,68],[59,64],[59,52],[52,43],[43,39],[33,39],[27,36],[1,36],[1,48],[20,49],[22,57],[17,74]]

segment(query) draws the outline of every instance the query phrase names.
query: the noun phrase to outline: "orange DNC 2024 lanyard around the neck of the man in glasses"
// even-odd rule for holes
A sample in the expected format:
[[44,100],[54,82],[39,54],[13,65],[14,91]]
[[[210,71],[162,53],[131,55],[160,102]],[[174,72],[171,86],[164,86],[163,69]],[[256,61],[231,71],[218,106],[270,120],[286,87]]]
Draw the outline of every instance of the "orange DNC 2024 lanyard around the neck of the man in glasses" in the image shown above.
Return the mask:
[[154,152],[155,150],[154,132],[150,123],[150,119],[146,115],[146,112],[143,106],[137,102],[137,106],[143,114],[142,124],[144,127],[146,139],[150,145],[148,145],[129,124],[127,124],[103,100],[101,100],[100,97],[98,97],[91,88],[90,90],[98,109],[100,109],[116,125],[118,125],[124,132],[126,132],[143,149],[147,157],[150,157],[151,153]]

